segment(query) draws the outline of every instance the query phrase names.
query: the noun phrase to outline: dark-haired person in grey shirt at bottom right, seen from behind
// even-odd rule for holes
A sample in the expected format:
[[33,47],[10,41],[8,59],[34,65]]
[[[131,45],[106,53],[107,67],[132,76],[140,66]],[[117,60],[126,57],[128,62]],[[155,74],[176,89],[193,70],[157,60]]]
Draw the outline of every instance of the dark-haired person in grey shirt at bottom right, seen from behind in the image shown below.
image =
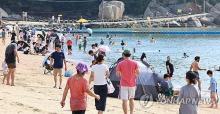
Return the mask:
[[178,101],[180,103],[179,114],[198,114],[200,95],[195,87],[197,75],[195,72],[186,73],[187,85],[180,89]]

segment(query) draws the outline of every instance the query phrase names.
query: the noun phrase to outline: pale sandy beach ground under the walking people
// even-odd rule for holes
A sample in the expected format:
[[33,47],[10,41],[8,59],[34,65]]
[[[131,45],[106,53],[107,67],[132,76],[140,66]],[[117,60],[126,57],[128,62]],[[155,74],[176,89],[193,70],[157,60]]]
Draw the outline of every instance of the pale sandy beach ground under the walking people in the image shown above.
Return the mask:
[[[9,39],[7,40],[9,42]],[[4,59],[6,45],[0,45],[0,62]],[[20,63],[17,64],[15,86],[0,84],[0,114],[70,114],[69,96],[66,106],[61,108],[60,100],[63,89],[53,88],[53,76],[44,75],[40,55],[24,55],[19,53]],[[68,69],[74,66],[68,65]],[[2,71],[0,72],[2,82]],[[89,74],[86,78],[89,77]],[[67,78],[63,78],[65,87]],[[178,114],[179,105],[153,103],[148,108],[139,101],[135,102],[135,114]],[[220,109],[207,108],[199,105],[199,114],[219,114]],[[96,114],[94,99],[88,97],[86,114]],[[121,100],[108,98],[105,114],[123,114]]]

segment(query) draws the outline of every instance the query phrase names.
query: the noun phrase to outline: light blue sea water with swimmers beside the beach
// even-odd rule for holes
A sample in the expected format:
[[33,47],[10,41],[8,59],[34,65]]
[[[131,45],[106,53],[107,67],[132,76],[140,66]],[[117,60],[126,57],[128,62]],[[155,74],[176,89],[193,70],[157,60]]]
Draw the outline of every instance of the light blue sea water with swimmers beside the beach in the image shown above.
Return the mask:
[[[96,29],[94,31],[99,31]],[[102,29],[106,31],[106,34],[110,30],[116,29]],[[127,30],[127,29],[117,29]],[[163,29],[166,30],[166,29]],[[169,30],[169,29],[168,29]],[[180,31],[181,29],[177,29]],[[215,29],[188,29],[196,31],[218,31],[219,28]],[[167,30],[166,30],[167,31]],[[186,29],[183,29],[186,31]],[[106,34],[93,34],[88,39],[87,51],[90,45],[93,43],[99,43],[101,38],[104,39],[105,45],[108,45],[109,41],[106,39]],[[111,34],[110,34],[111,35]],[[151,37],[156,39],[156,43],[150,43]],[[148,62],[154,67],[155,71],[161,74],[166,73],[165,61],[166,57],[170,56],[172,63],[175,66],[175,72],[173,76],[173,85],[175,88],[180,88],[186,84],[185,73],[189,70],[191,63],[194,61],[195,56],[200,56],[200,66],[202,68],[214,70],[214,67],[220,66],[220,35],[148,35],[148,34],[113,34],[113,41],[115,45],[110,45],[111,52],[107,53],[107,64],[111,65],[121,57],[121,40],[124,40],[127,44],[125,49],[133,50],[136,49],[136,53],[133,55],[140,57],[143,52],[147,55]],[[138,45],[137,41],[141,42]],[[75,44],[75,43],[74,43]],[[160,50],[160,52],[159,52]],[[183,53],[189,55],[188,58],[182,58]],[[88,55],[78,51],[77,47],[73,49],[73,59],[82,60],[89,62]],[[220,72],[214,72],[214,76],[220,84]],[[209,94],[209,77],[206,75],[206,71],[200,71],[200,78],[202,80],[203,94],[206,96]]]

